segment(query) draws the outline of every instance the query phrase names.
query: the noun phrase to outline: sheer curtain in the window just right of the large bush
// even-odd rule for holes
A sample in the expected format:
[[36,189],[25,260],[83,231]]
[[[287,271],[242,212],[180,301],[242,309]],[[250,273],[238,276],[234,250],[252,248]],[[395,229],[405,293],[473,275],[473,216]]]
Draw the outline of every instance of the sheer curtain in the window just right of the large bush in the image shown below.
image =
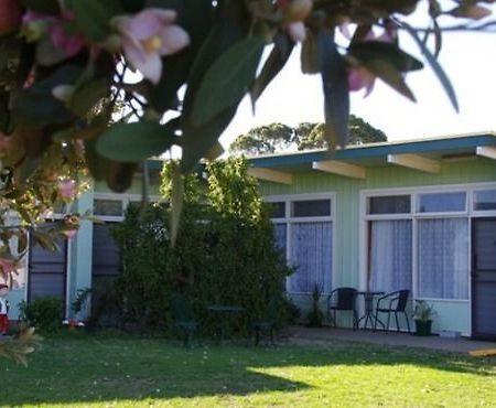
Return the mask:
[[324,292],[330,292],[332,223],[293,223],[290,234],[290,262],[298,267],[290,277],[290,291],[310,293],[316,283]]

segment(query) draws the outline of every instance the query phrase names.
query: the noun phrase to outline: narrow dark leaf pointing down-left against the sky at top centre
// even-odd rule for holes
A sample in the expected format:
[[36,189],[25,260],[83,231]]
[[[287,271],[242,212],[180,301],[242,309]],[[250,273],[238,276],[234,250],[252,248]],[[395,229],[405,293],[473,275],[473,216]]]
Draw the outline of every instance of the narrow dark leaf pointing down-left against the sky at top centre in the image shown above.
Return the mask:
[[263,64],[263,68],[260,75],[255,79],[250,89],[251,105],[254,106],[267,86],[279,74],[288,62],[291,52],[293,51],[294,43],[291,39],[283,33],[278,33],[273,39],[273,49],[270,52],[269,57]]

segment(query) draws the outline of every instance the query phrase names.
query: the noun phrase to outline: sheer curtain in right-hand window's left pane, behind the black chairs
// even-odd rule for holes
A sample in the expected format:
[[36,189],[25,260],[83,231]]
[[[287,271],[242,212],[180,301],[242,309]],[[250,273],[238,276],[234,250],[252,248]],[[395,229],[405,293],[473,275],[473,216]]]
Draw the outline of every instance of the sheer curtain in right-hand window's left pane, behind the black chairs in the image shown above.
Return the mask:
[[370,290],[411,290],[411,221],[371,221],[369,245]]

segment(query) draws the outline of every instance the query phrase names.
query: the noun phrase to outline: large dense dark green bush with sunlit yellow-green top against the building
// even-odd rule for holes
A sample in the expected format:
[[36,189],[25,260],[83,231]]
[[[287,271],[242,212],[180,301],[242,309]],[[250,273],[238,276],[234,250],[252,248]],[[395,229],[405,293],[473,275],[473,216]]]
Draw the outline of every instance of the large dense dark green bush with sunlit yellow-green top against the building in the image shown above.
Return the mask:
[[[122,271],[116,289],[121,321],[148,328],[171,328],[172,292],[186,294],[203,332],[213,332],[218,316],[209,304],[234,304],[246,312],[233,319],[237,332],[265,315],[271,299],[283,296],[291,272],[276,246],[273,226],[240,159],[207,165],[207,183],[185,179],[184,204],[175,245],[170,241],[166,205],[150,204],[144,212],[129,207],[114,227]],[[170,168],[164,170],[165,198]],[[281,322],[283,313],[281,312]]]

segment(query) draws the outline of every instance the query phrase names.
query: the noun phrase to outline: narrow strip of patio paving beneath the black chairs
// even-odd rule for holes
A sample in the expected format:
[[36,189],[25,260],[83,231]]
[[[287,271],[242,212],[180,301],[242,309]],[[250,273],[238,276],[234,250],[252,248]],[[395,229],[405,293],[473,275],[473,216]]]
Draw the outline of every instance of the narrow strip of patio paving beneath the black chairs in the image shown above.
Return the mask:
[[324,328],[306,328],[302,325],[293,325],[285,328],[281,333],[281,337],[288,342],[325,342],[325,341],[351,341],[373,344],[386,345],[403,345],[409,347],[425,347],[431,350],[441,350],[454,353],[468,353],[476,350],[496,348],[496,342],[475,341],[467,337],[441,337],[432,335],[428,337],[419,337],[408,333],[335,329]]

